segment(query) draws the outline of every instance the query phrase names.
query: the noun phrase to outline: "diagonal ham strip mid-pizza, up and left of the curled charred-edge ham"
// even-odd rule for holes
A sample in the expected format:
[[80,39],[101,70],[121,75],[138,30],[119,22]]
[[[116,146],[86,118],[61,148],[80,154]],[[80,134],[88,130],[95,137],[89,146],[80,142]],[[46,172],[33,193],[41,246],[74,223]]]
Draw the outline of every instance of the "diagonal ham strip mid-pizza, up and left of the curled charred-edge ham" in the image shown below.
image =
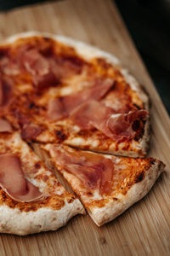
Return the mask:
[[82,103],[88,100],[99,101],[111,90],[113,79],[96,79],[93,86],[78,91],[71,96],[62,96],[48,103],[48,119],[59,120],[71,115],[71,113]]

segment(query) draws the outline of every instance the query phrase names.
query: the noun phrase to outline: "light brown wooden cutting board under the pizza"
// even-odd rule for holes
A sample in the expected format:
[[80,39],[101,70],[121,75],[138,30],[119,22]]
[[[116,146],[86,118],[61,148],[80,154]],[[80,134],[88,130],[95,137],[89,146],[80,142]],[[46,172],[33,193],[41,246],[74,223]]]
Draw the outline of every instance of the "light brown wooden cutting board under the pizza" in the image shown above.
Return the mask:
[[[77,216],[58,231],[0,235],[0,255],[170,255],[170,120],[111,0],[71,0],[0,14],[0,39],[27,31],[53,32],[115,54],[150,95],[150,155],[166,164],[144,200],[110,224]],[[154,39],[154,38],[153,38]]]

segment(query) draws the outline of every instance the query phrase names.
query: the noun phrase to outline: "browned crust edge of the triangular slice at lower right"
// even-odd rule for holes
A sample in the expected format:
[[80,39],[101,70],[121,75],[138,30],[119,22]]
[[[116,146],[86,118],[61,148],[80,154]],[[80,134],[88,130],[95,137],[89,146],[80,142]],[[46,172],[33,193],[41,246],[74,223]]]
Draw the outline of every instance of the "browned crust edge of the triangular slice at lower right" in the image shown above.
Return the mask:
[[164,164],[161,161],[156,160],[154,165],[147,171],[143,181],[135,183],[133,187],[127,191],[126,195],[118,195],[118,202],[110,201],[105,207],[93,207],[88,209],[88,213],[91,218],[93,218],[95,224],[101,226],[113,220],[122,214],[122,212],[125,212],[127,208],[141,200],[144,195],[150,191],[154,183],[156,183],[156,179],[160,176],[163,170]]

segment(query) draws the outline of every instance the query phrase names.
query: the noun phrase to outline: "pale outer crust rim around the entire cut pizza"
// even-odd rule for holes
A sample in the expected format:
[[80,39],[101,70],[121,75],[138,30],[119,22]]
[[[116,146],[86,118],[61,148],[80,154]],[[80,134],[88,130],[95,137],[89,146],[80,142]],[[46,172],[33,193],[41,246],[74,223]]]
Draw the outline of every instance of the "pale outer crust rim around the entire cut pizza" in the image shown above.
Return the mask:
[[[3,43],[3,45],[8,43],[11,44],[19,38],[26,38],[32,36],[45,36],[48,38],[54,38],[61,43],[70,45],[74,47],[77,50],[77,53],[82,55],[86,60],[90,60],[94,57],[105,58],[106,61],[115,65],[121,71],[127,83],[137,93],[141,101],[144,102],[144,108],[146,110],[149,110],[149,98],[141,89],[137,80],[128,73],[127,69],[121,66],[120,61],[118,61],[116,56],[106,53],[103,50],[97,49],[82,42],[72,40],[71,38],[55,36],[53,34],[42,32],[20,33],[8,38]],[[147,119],[144,126],[144,136],[138,145],[140,154],[139,152],[119,150],[119,155],[124,155],[125,153],[127,153],[128,155],[133,157],[144,156],[144,154],[146,154],[150,141],[149,127],[150,120]],[[110,152],[111,154],[117,153],[113,150],[107,151],[107,153]],[[159,160],[156,160],[156,162],[148,170],[146,176],[144,177],[144,180],[139,183],[135,183],[132,188],[127,191],[126,195],[118,195],[118,201],[111,200],[105,205],[105,207],[88,208],[89,215],[99,226],[116,218],[122,212],[126,211],[128,207],[131,207],[135,202],[139,201],[141,198],[144,197],[144,195],[146,195],[150,191],[151,187],[156,182],[157,177],[159,177],[159,175],[163,171],[163,168],[164,165]],[[0,232],[12,233],[23,236],[46,230],[57,230],[59,229],[59,227],[65,225],[71,217],[78,213],[84,213],[82,204],[78,199],[74,200],[70,204],[65,200],[65,206],[61,207],[59,210],[54,210],[50,207],[41,207],[38,208],[35,212],[21,212],[18,208],[12,209],[6,205],[2,205],[0,206]]]

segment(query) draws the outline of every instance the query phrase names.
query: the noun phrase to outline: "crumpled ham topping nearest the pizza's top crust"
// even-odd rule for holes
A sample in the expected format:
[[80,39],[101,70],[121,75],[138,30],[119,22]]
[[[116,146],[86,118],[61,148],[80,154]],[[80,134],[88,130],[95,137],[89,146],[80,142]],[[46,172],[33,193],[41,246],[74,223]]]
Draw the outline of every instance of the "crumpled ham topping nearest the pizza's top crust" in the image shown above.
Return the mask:
[[26,71],[31,74],[33,84],[39,88],[58,85],[61,79],[81,73],[85,64],[81,58],[70,55],[54,55],[53,47],[48,51],[23,47],[18,53]]

